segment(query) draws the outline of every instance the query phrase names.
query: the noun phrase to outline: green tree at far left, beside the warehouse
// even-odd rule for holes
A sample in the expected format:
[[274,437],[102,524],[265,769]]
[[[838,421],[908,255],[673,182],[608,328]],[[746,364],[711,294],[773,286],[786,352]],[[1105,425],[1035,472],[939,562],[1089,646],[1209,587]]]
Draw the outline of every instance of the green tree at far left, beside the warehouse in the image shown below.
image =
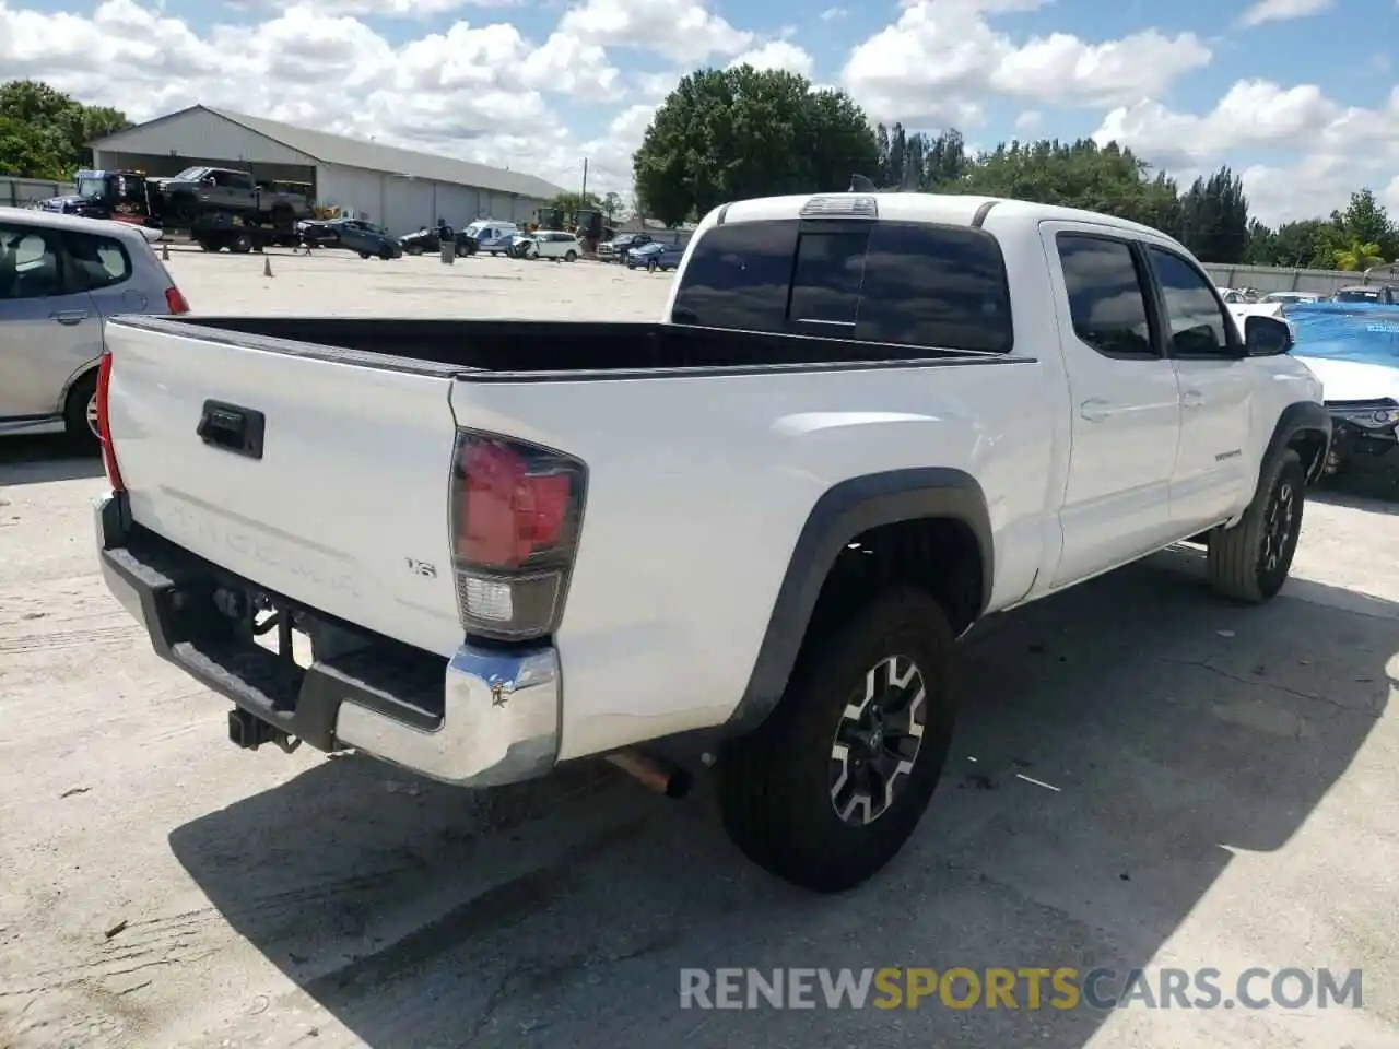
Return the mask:
[[126,113],[87,106],[35,80],[0,84],[0,173],[62,179],[92,164],[85,143],[132,126]]

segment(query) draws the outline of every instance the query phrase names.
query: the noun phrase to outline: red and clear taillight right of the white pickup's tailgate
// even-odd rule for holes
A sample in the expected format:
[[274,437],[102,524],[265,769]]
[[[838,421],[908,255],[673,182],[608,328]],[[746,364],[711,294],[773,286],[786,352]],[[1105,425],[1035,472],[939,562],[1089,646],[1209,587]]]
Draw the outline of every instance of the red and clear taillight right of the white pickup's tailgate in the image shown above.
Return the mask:
[[457,432],[452,541],[467,632],[522,641],[558,628],[586,483],[586,467],[561,452]]

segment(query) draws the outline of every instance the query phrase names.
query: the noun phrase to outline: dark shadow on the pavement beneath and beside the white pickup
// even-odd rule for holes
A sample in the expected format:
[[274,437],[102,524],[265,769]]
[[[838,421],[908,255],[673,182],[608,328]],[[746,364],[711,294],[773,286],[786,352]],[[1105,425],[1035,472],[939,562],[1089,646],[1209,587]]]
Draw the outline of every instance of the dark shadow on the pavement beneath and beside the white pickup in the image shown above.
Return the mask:
[[[1146,966],[1233,850],[1288,845],[1385,711],[1399,607],[1298,589],[1233,607],[1177,551],[988,621],[929,815],[834,898],[747,864],[704,782],[676,804],[583,765],[471,794],[327,761],[169,836],[299,986],[225,1034],[333,1018],[375,1049],[1079,1049],[1109,1013],[683,1010],[680,969]],[[1274,916],[1328,906],[1280,874],[1255,892]]]

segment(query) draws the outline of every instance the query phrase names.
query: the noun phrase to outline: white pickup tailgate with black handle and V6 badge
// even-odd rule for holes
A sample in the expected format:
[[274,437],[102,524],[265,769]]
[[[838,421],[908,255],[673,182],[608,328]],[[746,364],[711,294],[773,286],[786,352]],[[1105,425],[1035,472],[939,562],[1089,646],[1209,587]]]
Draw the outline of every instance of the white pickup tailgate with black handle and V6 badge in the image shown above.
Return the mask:
[[[450,368],[145,319],[108,323],[105,341],[137,524],[312,608],[456,650]],[[200,435],[211,417],[224,436]],[[228,446],[239,428],[252,448]]]

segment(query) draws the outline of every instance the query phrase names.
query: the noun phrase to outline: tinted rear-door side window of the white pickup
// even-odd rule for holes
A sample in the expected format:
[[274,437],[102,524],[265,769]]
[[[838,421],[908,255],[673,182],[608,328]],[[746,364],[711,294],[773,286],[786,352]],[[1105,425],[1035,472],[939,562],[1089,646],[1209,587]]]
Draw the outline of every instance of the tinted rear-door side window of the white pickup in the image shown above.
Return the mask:
[[1090,234],[1059,234],[1055,246],[1079,340],[1104,357],[1156,359],[1151,313],[1130,245]]

